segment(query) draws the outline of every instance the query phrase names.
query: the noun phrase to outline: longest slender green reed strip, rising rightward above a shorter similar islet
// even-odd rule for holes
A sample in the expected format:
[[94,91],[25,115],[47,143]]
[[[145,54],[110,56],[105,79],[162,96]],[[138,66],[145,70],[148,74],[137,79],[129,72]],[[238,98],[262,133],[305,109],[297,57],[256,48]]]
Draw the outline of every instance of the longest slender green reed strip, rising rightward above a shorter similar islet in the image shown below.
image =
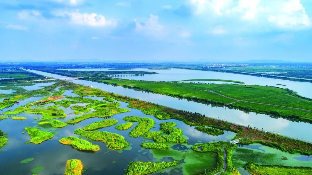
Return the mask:
[[124,108],[116,108],[116,109],[110,109],[110,110],[105,110],[105,111],[95,111],[89,114],[84,114],[82,116],[75,117],[69,121],[67,121],[68,124],[74,124],[78,123],[80,121],[83,121],[88,118],[92,117],[109,117],[113,116],[115,114],[123,113],[123,112],[129,112],[129,109],[124,109]]

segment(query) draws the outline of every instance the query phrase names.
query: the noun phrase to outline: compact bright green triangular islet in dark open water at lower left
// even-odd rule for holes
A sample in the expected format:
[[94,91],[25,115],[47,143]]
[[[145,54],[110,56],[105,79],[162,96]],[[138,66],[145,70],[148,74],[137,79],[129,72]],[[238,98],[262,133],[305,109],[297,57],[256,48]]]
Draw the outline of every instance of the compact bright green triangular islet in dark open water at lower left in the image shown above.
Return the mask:
[[40,144],[41,142],[54,137],[54,135],[51,132],[41,131],[38,128],[26,127],[25,130],[31,137],[30,142],[34,144]]

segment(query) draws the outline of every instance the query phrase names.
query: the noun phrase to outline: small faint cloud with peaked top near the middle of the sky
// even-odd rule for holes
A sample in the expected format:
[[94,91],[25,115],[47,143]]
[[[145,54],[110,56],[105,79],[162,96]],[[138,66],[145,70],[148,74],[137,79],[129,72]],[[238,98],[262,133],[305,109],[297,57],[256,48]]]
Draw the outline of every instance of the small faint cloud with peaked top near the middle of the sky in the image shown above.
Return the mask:
[[163,26],[158,22],[159,17],[153,14],[149,15],[149,20],[147,22],[141,23],[135,21],[135,31],[144,32],[147,35],[160,36],[163,35]]

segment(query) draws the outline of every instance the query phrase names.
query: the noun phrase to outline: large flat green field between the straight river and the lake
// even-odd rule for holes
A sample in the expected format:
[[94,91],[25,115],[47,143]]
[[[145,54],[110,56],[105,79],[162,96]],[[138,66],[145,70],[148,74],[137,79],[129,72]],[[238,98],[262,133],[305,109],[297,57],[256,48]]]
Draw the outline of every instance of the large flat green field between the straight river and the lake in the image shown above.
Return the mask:
[[125,79],[97,81],[146,92],[186,98],[195,102],[211,103],[243,111],[280,116],[294,121],[312,122],[312,101],[298,96],[289,89],[257,85],[193,84]]

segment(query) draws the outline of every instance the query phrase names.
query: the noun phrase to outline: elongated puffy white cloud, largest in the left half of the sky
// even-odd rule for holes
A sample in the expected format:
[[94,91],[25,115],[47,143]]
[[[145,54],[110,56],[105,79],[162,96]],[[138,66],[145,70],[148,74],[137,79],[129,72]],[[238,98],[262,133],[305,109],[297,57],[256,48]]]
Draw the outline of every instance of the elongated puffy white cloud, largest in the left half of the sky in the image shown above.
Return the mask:
[[70,17],[71,22],[77,25],[86,25],[92,27],[105,27],[105,26],[116,26],[117,22],[114,19],[106,20],[103,15],[96,13],[80,13],[78,10],[75,12],[58,11],[54,12],[57,17]]

